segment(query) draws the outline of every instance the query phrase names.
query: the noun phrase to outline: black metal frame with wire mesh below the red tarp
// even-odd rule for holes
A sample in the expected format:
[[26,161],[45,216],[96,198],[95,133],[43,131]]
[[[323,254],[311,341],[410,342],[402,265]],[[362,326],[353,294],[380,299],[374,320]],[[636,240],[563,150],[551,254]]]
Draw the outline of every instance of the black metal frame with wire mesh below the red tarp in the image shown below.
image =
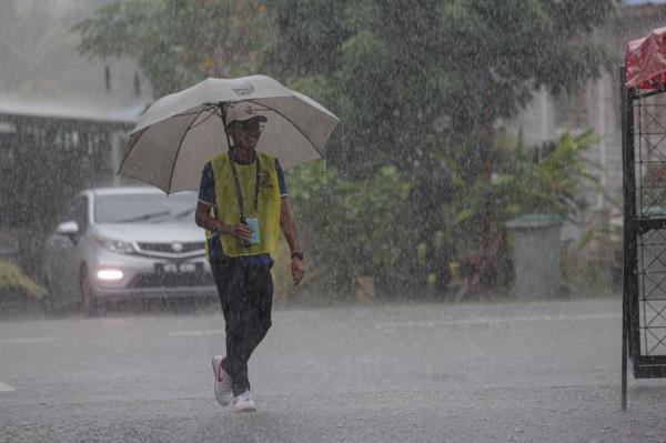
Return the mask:
[[622,407],[634,377],[666,376],[666,89],[625,88],[620,69],[624,174]]

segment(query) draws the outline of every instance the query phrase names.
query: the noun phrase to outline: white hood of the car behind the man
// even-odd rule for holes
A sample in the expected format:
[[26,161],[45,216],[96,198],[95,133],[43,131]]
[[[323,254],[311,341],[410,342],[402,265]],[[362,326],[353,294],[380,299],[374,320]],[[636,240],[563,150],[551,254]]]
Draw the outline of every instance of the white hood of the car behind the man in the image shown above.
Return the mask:
[[194,223],[113,223],[97,224],[94,233],[125,242],[203,242],[203,229]]

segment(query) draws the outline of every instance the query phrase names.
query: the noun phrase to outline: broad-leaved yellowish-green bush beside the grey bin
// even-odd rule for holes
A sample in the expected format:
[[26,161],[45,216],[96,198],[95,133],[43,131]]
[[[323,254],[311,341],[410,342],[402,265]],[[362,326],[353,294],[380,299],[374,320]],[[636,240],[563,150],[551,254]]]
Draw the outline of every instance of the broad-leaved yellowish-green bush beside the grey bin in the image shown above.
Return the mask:
[[598,167],[584,157],[597,140],[592,132],[565,133],[548,152],[535,155],[519,139],[498,131],[492,174],[476,174],[470,183],[463,180],[466,171],[454,170],[457,198],[443,209],[444,225],[463,278],[477,282],[470,292],[509,284],[513,263],[504,228],[507,221],[519,214],[554,213],[579,222],[585,209],[583,185],[599,189],[592,174]]

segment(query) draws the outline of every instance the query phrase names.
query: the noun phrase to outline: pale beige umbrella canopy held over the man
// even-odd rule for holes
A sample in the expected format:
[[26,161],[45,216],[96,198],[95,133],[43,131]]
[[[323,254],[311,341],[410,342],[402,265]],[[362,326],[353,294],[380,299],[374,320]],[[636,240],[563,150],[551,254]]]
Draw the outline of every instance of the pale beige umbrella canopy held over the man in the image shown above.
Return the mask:
[[270,77],[211,78],[161,98],[145,111],[118,173],[167,193],[198,189],[204,164],[229,150],[226,109],[243,102],[266,117],[256,149],[276,157],[283,169],[324,158],[340,122],[316,101]]

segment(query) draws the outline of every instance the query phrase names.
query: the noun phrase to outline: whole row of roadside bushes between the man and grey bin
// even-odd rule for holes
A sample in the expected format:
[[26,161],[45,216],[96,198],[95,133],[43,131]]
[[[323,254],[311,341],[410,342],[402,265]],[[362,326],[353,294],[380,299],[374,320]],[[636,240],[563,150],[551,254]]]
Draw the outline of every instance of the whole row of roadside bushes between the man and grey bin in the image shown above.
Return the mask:
[[[300,292],[351,298],[362,275],[374,276],[380,296],[445,298],[456,291],[464,298],[506,289],[512,256],[505,222],[529,212],[576,221],[584,207],[581,185],[598,185],[589,172],[595,165],[583,155],[596,140],[589,132],[564,134],[535,159],[521,140],[500,132],[496,172],[473,180],[447,159],[447,180],[392,164],[361,179],[342,178],[324,162],[289,171],[307,255],[307,291]],[[435,199],[424,182],[450,191]],[[453,286],[464,283],[463,292],[451,285],[456,278]]]

